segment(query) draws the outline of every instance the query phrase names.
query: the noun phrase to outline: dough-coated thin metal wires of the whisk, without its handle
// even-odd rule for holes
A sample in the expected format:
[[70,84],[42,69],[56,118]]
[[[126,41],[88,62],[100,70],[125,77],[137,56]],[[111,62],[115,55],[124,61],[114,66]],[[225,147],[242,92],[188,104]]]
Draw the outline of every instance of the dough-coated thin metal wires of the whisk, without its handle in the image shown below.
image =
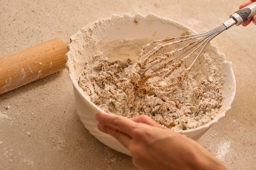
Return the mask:
[[[179,84],[183,81],[184,77],[189,73],[195,62],[198,60],[202,52],[204,51],[205,47],[209,42],[215,38],[217,35],[222,33],[227,29],[227,26],[225,24],[221,24],[220,26],[212,29],[211,31],[208,31],[206,33],[196,34],[196,35],[185,35],[180,36],[176,38],[169,38],[164,40],[157,40],[150,42],[146,44],[140,51],[139,54],[139,60],[137,61],[138,66],[140,69],[140,74],[142,75],[142,82],[146,81],[146,79],[150,77],[154,77],[156,75],[164,75],[164,77],[168,77],[173,73],[173,71],[177,68],[180,68],[182,63],[189,59],[195,51],[198,51],[200,48],[199,53],[195,56],[195,59],[193,62],[185,68],[185,70],[180,74],[180,76],[177,77],[176,81],[169,84],[170,86],[173,86],[175,84]],[[170,41],[170,42],[168,42]],[[148,49],[150,45],[155,43],[163,43],[167,42],[166,44],[158,44],[155,47],[153,47],[152,50],[148,51],[147,53],[144,53],[145,49]],[[181,42],[188,42],[185,45],[182,45],[174,50],[165,52],[163,54],[157,55],[157,53],[160,52],[161,49],[165,49],[168,46],[175,45],[177,43]],[[177,56],[175,56],[176,53],[181,52]],[[189,54],[185,54],[189,52]],[[177,60],[179,57],[182,57],[180,60]],[[145,58],[144,62],[141,62],[141,60]],[[176,61],[176,62],[174,62]]]

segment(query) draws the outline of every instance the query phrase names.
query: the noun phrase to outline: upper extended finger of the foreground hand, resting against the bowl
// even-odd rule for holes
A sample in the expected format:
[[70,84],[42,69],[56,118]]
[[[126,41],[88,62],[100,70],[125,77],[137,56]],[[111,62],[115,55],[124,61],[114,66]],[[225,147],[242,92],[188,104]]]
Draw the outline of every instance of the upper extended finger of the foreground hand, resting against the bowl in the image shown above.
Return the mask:
[[103,126],[108,126],[119,130],[128,136],[132,136],[132,129],[136,128],[136,122],[119,115],[111,115],[108,113],[97,113],[95,119]]

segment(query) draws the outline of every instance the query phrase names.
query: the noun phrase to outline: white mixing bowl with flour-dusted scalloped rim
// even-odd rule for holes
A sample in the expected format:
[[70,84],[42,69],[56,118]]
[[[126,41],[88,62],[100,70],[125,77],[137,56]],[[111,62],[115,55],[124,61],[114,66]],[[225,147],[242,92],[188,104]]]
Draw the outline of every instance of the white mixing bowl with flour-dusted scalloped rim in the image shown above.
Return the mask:
[[[66,67],[74,88],[76,111],[85,128],[94,137],[106,146],[132,156],[129,150],[122,146],[115,138],[97,129],[95,114],[103,111],[90,101],[88,95],[83,92],[78,84],[79,77],[85,68],[85,62],[88,58],[92,57],[101,45],[114,39],[134,40],[138,38],[150,38],[152,40],[159,40],[167,37],[177,37],[185,32],[195,33],[188,27],[173,20],[161,18],[152,13],[146,16],[137,13],[134,16],[129,14],[125,14],[124,16],[113,15],[112,18],[92,22],[70,37],[71,44],[67,47]],[[142,46],[138,48],[141,49]],[[216,46],[209,44],[209,49],[214,55],[223,58],[222,76],[225,80],[222,90],[224,98],[215,119],[198,128],[178,131],[194,140],[199,139],[213,124],[225,116],[227,110],[231,108],[230,106],[236,91],[231,62],[225,60],[225,55],[219,53]]]

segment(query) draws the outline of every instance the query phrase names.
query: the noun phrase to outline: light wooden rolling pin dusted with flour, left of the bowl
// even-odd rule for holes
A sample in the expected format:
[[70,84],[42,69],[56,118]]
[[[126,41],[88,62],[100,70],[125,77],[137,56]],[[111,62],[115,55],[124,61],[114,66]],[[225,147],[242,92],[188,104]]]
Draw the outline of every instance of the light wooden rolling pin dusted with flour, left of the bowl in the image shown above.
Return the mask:
[[0,57],[0,95],[65,68],[67,44],[55,38]]

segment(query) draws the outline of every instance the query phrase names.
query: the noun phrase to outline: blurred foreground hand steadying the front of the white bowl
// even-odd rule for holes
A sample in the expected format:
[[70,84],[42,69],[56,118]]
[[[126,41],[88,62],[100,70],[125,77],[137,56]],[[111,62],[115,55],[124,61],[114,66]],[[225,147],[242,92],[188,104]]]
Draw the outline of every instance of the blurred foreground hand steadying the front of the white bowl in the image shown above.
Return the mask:
[[227,170],[196,141],[146,115],[128,119],[97,113],[95,118],[97,128],[128,148],[133,164],[141,170]]

